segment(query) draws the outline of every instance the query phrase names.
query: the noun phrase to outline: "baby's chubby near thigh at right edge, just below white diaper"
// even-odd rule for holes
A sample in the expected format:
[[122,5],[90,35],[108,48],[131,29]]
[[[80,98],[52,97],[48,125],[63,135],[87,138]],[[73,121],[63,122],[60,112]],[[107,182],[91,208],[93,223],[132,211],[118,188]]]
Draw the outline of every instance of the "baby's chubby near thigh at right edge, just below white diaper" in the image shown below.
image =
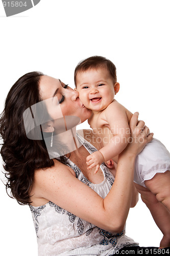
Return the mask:
[[145,186],[170,211],[170,172],[157,173],[151,180],[146,180]]

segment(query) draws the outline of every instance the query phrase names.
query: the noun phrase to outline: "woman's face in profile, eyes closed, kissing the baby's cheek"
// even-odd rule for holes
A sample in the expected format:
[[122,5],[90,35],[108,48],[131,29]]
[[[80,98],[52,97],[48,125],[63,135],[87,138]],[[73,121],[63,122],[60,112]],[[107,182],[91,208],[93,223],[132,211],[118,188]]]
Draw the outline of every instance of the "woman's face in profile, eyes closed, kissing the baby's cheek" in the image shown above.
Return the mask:
[[[53,120],[63,116],[77,116],[84,122],[91,115],[79,99],[79,93],[65,85],[60,79],[41,76],[39,82],[40,96],[46,100],[47,111]],[[48,99],[48,100],[47,100]]]

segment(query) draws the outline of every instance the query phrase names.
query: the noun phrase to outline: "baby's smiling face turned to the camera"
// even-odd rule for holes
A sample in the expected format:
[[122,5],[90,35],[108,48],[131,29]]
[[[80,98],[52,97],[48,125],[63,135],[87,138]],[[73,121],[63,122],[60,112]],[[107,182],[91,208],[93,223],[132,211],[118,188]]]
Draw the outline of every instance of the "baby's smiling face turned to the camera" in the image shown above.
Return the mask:
[[79,98],[87,109],[99,112],[113,101],[113,78],[106,68],[79,72],[76,81]]

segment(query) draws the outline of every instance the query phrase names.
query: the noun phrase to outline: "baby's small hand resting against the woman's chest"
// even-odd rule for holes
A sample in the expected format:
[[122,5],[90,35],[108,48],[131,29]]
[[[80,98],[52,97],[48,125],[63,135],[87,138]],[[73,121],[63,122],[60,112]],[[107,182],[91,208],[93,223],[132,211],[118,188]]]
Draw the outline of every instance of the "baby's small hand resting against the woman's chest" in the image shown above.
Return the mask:
[[100,164],[103,163],[104,157],[100,151],[95,151],[86,158],[87,169],[92,169],[95,166],[94,173],[96,174],[99,170]]

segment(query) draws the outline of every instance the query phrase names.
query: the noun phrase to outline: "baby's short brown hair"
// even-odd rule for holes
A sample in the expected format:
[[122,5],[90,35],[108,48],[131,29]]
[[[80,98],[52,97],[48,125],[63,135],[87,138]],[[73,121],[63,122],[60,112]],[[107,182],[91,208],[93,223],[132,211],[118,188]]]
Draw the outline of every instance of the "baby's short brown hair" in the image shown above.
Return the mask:
[[116,76],[116,67],[113,62],[102,56],[91,56],[87,59],[81,60],[76,69],[75,69],[75,86],[76,86],[76,77],[79,72],[85,72],[88,69],[98,69],[98,68],[106,68],[111,77],[113,78],[113,83],[117,81]]

